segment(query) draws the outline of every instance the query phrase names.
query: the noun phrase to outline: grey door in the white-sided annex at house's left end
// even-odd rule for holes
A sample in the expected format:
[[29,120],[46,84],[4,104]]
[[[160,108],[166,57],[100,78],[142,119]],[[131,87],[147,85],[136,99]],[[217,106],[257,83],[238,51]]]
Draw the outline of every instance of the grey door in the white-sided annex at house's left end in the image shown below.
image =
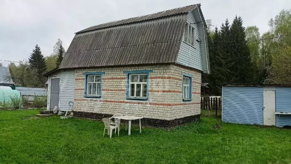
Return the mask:
[[50,90],[50,102],[49,108],[54,109],[55,106],[58,106],[60,99],[60,78],[51,79],[51,90]]

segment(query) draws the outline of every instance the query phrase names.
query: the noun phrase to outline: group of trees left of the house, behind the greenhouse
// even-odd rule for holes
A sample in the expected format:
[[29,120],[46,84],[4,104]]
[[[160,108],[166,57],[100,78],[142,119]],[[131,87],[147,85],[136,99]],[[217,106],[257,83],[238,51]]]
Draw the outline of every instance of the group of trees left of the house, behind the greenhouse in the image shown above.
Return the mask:
[[64,54],[65,49],[60,39],[54,45],[52,54],[46,57],[36,44],[28,60],[19,61],[18,64],[11,62],[8,65],[10,76],[5,79],[12,79],[14,83],[24,87],[44,88],[47,78],[42,75],[58,67]]

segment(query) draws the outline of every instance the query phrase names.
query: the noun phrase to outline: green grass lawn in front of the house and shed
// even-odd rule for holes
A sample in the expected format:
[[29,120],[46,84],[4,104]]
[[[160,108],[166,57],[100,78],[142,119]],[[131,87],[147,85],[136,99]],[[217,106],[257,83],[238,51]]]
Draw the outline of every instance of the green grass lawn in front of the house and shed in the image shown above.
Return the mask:
[[[122,125],[103,138],[103,122],[0,111],[0,163],[291,163],[291,130],[202,117],[172,130]],[[220,122],[220,121],[219,121]]]

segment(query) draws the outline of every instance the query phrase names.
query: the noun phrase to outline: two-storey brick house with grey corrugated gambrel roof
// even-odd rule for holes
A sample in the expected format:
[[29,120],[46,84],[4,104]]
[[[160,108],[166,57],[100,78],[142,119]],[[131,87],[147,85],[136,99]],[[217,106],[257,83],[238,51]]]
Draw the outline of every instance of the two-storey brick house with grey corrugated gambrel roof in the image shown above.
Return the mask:
[[47,110],[73,101],[77,117],[122,113],[167,128],[200,119],[206,28],[195,4],[77,32],[59,68],[44,75]]

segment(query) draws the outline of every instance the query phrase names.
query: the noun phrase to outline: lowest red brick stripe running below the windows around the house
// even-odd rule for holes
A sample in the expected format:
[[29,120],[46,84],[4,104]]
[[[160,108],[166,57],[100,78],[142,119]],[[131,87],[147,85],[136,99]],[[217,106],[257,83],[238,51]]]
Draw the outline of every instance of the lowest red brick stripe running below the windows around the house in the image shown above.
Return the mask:
[[131,102],[131,101],[112,101],[112,100],[90,100],[90,99],[74,99],[75,101],[95,101],[95,102],[109,102],[109,103],[120,103],[120,104],[146,104],[146,105],[160,105],[160,106],[180,106],[180,105],[192,105],[198,103],[178,103],[178,104],[166,104],[166,103],[149,103],[149,102]]

